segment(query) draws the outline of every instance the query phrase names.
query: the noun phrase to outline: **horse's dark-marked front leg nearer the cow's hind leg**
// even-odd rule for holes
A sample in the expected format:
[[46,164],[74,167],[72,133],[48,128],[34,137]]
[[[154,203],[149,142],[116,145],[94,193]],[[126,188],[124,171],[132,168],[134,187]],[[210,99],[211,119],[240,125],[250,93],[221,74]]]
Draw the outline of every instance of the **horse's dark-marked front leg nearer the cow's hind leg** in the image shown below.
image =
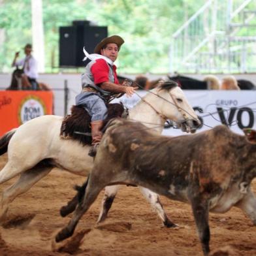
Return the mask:
[[114,201],[116,197],[116,193],[118,193],[119,188],[120,188],[119,185],[111,185],[111,186],[105,187],[103,202],[101,204],[101,212],[99,214],[97,223],[104,221],[108,216],[108,211],[112,206],[112,202]]

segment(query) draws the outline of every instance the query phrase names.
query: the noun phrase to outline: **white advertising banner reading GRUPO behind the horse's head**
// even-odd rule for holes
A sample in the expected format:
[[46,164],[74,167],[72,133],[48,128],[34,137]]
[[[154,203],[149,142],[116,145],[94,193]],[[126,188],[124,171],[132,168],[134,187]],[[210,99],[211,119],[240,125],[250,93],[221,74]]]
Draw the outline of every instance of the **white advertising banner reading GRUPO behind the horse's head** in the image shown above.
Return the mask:
[[[146,91],[136,91],[143,97]],[[235,133],[243,134],[243,128],[256,129],[256,91],[210,91],[184,90],[189,104],[193,106],[202,121],[198,131],[211,129],[216,125],[227,125]],[[133,107],[140,97],[125,96],[120,101],[127,107]],[[184,135],[180,129],[174,129],[172,123],[166,125],[163,135]]]

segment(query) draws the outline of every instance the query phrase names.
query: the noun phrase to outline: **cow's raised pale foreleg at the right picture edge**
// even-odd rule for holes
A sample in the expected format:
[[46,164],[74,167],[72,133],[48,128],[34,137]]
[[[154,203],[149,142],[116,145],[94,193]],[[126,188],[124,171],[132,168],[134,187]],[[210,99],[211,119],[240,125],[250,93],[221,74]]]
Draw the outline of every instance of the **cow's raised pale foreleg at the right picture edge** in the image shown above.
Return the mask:
[[256,225],[256,198],[251,189],[249,189],[248,193],[244,195],[244,198],[236,206],[246,213],[253,222],[253,225]]

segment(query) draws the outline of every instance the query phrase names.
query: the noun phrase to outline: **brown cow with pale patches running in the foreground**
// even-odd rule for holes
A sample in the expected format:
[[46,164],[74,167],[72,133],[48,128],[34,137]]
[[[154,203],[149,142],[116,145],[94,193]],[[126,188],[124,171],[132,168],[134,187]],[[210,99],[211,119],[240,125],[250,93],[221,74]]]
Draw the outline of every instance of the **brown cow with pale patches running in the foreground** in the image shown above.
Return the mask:
[[112,121],[85,184],[86,194],[80,195],[80,204],[56,242],[72,235],[106,185],[135,184],[189,202],[207,255],[209,211],[224,213],[236,206],[256,225],[256,199],[250,188],[256,176],[256,133],[246,131],[246,135],[219,125],[195,135],[167,137],[154,135],[141,123]]

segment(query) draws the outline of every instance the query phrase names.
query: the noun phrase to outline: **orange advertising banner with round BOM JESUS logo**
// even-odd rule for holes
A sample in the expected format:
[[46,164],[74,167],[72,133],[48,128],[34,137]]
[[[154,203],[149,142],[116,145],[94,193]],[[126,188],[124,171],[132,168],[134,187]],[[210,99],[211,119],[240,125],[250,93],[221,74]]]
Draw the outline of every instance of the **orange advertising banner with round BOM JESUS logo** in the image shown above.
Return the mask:
[[52,91],[0,91],[0,136],[38,116],[52,114]]

